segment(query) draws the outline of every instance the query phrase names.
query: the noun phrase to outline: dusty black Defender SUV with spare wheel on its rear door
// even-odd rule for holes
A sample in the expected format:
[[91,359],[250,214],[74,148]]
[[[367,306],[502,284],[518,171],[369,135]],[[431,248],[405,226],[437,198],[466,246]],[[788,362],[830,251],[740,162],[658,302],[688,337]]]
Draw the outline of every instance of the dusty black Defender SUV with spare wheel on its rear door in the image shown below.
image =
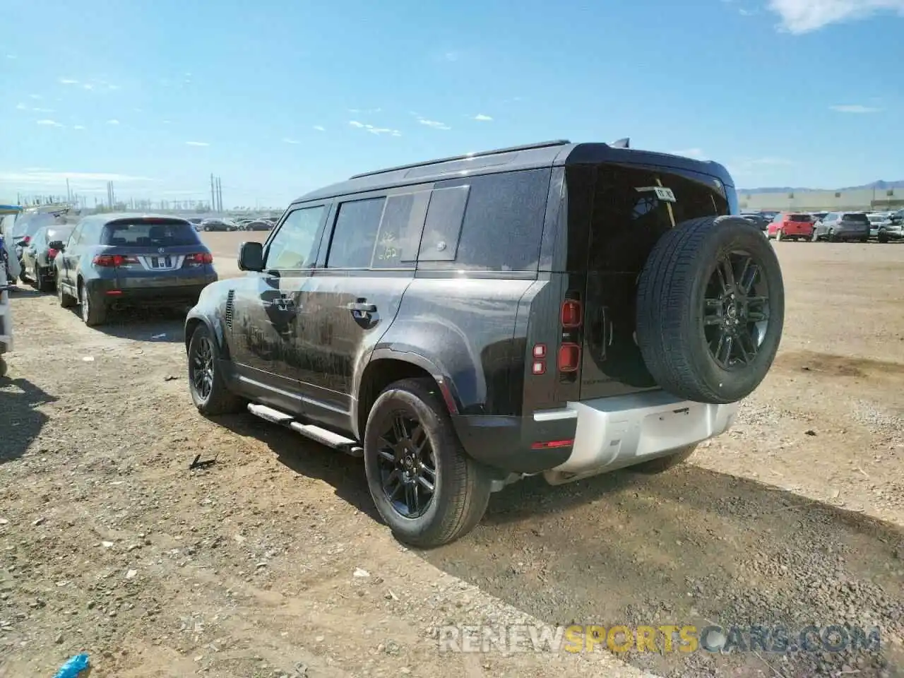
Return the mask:
[[363,455],[382,518],[425,547],[522,476],[664,470],[778,348],[781,271],[738,212],[721,165],[601,143],[355,175],[204,289],[193,401]]

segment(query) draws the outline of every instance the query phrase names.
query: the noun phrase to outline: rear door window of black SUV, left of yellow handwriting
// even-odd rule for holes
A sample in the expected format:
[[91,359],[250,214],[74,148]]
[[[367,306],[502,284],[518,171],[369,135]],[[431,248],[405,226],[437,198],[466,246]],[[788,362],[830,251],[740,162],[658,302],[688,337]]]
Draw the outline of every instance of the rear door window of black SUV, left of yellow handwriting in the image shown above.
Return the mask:
[[369,268],[386,198],[343,202],[339,205],[326,268]]

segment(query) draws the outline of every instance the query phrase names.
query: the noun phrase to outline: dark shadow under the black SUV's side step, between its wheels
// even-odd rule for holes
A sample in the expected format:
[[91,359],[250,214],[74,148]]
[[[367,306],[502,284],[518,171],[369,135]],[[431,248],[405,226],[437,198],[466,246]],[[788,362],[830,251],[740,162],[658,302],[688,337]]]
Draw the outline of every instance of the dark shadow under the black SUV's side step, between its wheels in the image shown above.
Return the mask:
[[299,476],[317,478],[333,485],[336,496],[380,522],[367,489],[363,459],[337,452],[252,414],[212,417],[211,420],[240,436],[266,443],[280,464]]

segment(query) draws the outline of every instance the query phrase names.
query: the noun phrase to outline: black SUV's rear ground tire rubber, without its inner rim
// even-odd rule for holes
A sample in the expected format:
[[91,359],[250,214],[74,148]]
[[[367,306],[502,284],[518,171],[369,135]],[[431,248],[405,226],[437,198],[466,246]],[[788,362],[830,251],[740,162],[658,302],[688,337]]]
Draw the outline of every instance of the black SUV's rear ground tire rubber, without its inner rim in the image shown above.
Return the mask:
[[[486,511],[491,489],[488,469],[467,456],[437,391],[426,378],[392,383],[373,403],[364,430],[364,469],[377,511],[399,541],[421,548],[447,544],[474,529]],[[393,508],[381,481],[378,440],[398,410],[418,419],[437,464],[435,493],[426,513],[416,518]]]

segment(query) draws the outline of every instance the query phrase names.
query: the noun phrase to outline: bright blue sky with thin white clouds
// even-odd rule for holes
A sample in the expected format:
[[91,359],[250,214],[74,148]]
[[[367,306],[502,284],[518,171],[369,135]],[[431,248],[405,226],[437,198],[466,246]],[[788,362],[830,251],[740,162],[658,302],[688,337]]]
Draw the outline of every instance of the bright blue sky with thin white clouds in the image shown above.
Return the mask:
[[[0,202],[284,206],[386,165],[551,138],[719,160],[743,187],[904,179],[904,0],[3,0]],[[20,32],[10,32],[22,26]]]

